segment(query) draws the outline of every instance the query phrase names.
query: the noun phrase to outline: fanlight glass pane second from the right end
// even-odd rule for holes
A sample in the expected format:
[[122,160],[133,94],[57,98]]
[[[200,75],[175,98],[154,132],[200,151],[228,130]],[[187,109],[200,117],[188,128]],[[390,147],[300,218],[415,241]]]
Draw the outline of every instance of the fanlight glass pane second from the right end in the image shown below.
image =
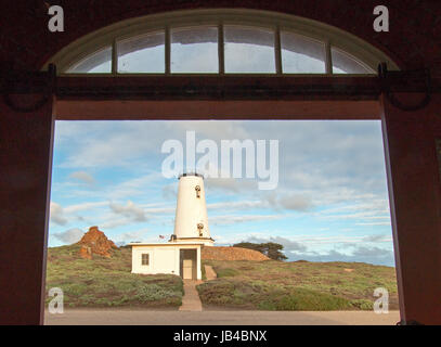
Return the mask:
[[288,74],[325,74],[325,44],[304,36],[281,31],[282,69]]

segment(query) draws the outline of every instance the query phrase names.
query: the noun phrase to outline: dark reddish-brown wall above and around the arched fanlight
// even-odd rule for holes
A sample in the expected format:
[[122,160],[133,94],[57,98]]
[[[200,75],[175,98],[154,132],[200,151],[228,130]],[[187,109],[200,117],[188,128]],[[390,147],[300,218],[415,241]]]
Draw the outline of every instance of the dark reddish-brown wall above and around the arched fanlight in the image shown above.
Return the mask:
[[[65,31],[48,30],[47,4],[65,11]],[[390,11],[390,33],[373,29],[376,5]],[[248,8],[295,14],[352,33],[402,68],[430,67],[441,76],[438,0],[1,0],[0,64],[38,69],[81,36],[130,17],[181,9]],[[1,65],[0,65],[1,66]]]

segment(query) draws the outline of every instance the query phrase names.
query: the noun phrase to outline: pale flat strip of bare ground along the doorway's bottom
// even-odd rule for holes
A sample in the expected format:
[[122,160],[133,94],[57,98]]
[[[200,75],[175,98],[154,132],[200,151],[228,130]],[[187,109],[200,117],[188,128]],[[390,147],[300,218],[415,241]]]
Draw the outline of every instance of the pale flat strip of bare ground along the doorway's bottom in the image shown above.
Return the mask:
[[179,311],[70,309],[62,314],[46,312],[47,325],[394,325],[398,311]]

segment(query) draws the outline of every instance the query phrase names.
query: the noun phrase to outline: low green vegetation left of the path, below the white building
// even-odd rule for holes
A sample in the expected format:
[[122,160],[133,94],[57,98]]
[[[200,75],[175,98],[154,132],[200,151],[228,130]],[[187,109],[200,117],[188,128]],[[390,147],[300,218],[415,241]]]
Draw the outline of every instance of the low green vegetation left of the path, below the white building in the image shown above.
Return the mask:
[[[79,245],[49,248],[47,292],[60,287],[66,307],[179,307],[183,285],[173,274],[131,273],[131,249],[112,250],[112,258],[79,257]],[[47,296],[47,303],[52,297]]]

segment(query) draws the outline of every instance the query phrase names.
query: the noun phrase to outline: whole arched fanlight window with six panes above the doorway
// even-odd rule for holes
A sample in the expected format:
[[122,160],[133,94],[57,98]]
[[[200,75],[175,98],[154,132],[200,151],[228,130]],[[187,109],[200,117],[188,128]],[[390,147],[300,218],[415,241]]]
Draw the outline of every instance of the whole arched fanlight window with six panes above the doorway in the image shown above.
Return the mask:
[[[61,64],[62,74],[375,74],[381,53],[365,49],[356,41],[352,50],[342,49],[338,34],[327,36],[326,29],[308,27],[297,30],[290,21],[273,17],[232,21],[229,17],[197,20],[198,24],[167,22],[163,25],[114,30],[107,43],[93,52],[94,42],[77,44],[81,53]],[[259,18],[260,20],[260,18]],[[293,23],[295,21],[293,20]],[[124,26],[121,26],[125,28]],[[328,31],[332,31],[330,29]],[[354,39],[355,40],[355,39]],[[99,42],[96,40],[96,42]],[[351,46],[352,44],[352,46]],[[343,46],[345,47],[345,46]],[[356,52],[355,54],[353,52]],[[366,55],[367,52],[367,55]],[[360,56],[368,56],[367,62]],[[364,60],[364,59],[363,59]],[[385,60],[386,61],[386,60]],[[55,62],[56,63],[56,62]],[[394,67],[392,66],[392,69]]]

